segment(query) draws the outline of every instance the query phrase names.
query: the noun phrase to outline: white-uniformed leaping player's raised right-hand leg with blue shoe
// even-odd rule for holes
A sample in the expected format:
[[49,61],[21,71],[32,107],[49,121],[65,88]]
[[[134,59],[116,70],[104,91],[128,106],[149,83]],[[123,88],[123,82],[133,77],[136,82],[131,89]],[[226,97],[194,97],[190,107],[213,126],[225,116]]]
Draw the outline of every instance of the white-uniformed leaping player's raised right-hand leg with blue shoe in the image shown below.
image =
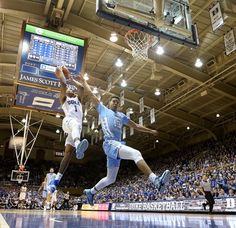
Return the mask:
[[82,124],[73,118],[70,118],[68,121],[65,121],[67,128],[74,142],[74,147],[76,149],[76,158],[82,159],[84,157],[84,152],[88,149],[88,140],[83,139],[80,141],[80,135],[82,130]]

